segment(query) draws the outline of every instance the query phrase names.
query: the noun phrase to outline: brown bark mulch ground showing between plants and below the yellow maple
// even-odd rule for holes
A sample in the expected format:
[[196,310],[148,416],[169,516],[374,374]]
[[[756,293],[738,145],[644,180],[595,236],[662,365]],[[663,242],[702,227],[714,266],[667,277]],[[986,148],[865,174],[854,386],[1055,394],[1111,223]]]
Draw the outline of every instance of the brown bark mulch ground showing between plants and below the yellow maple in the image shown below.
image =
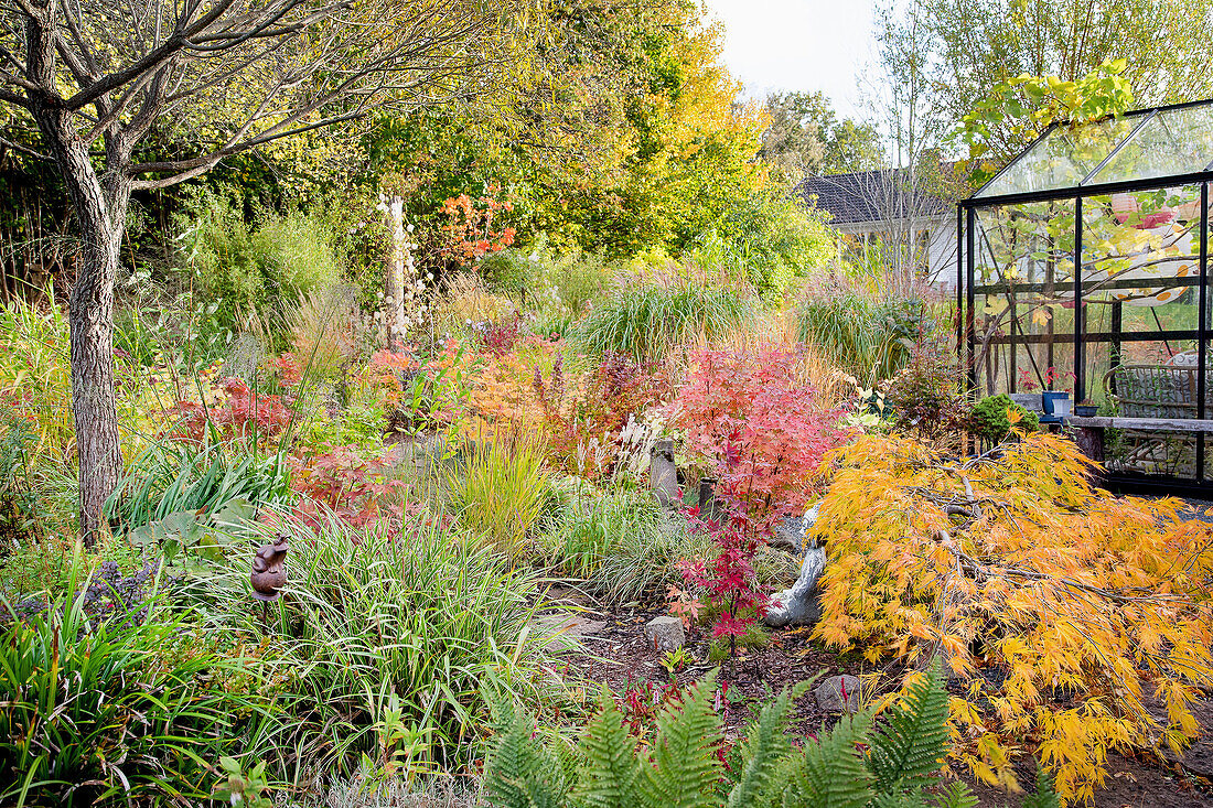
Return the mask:
[[[558,594],[559,599],[559,594]],[[655,650],[644,637],[644,624],[664,614],[660,610],[621,609],[613,613],[597,610],[585,598],[564,593],[570,608],[557,618],[568,624],[568,635],[576,637],[581,649],[565,653],[570,677],[581,677],[587,687],[602,683],[616,696],[631,687],[648,682],[660,692],[670,683],[668,673],[661,667],[662,653]],[[809,641],[803,628],[774,630],[771,642],[765,648],[741,650],[730,670],[722,667],[722,679],[729,683],[725,707],[725,734],[731,739],[745,732],[746,723],[762,709],[771,694],[785,685],[809,679],[816,673],[821,678],[839,673],[855,676],[872,672],[862,660],[839,656],[820,644]],[[682,683],[695,681],[712,667],[707,662],[708,639],[706,636],[688,637],[688,648],[697,660],[678,675]],[[877,693],[895,689],[901,671],[884,671],[885,676],[876,687]],[[883,684],[883,687],[882,687]],[[798,734],[818,733],[828,728],[837,715],[824,712],[811,693],[798,699],[792,722]],[[1213,738],[1213,700],[1206,701],[1197,711],[1197,718]],[[1097,808],[1191,808],[1213,806],[1213,742],[1197,744],[1186,756],[1189,768],[1158,761],[1152,756],[1124,757],[1109,755],[1109,778],[1104,789],[1097,792]],[[1205,776],[1196,773],[1203,773]],[[1030,785],[1035,774],[1025,768],[1018,773],[1020,783]],[[983,808],[1018,807],[1015,795],[974,786]]]

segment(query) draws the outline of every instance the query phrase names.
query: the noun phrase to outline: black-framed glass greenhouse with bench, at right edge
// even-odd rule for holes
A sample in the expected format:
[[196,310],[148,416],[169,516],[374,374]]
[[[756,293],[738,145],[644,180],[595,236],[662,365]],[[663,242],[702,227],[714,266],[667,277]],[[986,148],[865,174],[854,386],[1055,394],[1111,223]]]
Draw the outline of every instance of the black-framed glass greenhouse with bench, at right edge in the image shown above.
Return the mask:
[[1053,125],[957,220],[978,396],[1070,427],[1114,488],[1213,493],[1213,101]]

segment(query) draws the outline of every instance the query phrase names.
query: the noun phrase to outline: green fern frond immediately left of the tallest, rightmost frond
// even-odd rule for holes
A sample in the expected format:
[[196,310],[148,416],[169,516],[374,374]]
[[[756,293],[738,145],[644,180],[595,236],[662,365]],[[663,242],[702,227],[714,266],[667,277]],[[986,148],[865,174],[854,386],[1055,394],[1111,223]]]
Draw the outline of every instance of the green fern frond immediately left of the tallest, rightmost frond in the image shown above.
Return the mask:
[[784,808],[865,808],[875,797],[872,773],[856,750],[867,742],[872,715],[843,716],[820,741],[804,747]]

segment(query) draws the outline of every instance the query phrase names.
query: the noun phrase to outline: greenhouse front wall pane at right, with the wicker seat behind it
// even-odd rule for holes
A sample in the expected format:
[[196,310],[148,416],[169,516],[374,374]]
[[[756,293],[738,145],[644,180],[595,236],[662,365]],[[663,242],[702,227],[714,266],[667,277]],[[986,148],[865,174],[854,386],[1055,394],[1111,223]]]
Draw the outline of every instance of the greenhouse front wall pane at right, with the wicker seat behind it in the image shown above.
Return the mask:
[[[1198,415],[1198,186],[1083,199],[1082,375],[1086,403],[1103,414]],[[1196,440],[1155,428],[1109,429],[1106,466],[1194,479]]]

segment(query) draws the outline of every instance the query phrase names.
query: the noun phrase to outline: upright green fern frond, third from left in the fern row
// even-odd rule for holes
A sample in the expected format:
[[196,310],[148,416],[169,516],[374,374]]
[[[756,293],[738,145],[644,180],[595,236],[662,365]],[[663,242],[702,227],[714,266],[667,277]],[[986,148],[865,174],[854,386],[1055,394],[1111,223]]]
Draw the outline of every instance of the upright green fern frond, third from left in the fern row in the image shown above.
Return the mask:
[[642,767],[639,792],[651,808],[718,808],[716,784],[721,762],[721,719],[712,709],[714,677],[690,688],[680,706],[670,705],[657,716],[657,738],[650,766]]

